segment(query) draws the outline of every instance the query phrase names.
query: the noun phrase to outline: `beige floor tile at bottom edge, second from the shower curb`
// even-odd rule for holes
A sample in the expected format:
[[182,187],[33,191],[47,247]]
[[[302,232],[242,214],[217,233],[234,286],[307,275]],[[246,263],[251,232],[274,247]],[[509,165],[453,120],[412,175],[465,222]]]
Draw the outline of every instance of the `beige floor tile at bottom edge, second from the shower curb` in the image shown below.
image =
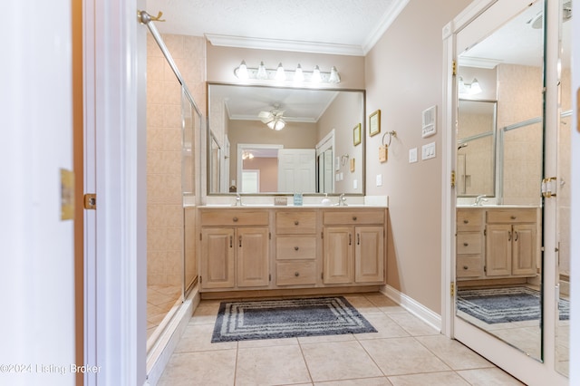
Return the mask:
[[236,385],[282,385],[310,382],[300,346],[238,349]]

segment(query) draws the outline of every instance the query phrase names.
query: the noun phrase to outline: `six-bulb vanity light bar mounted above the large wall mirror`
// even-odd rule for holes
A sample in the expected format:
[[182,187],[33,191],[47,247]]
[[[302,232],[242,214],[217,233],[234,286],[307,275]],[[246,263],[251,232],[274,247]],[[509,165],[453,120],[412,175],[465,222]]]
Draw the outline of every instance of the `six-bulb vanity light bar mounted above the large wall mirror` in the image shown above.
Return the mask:
[[234,74],[240,81],[292,81],[295,84],[312,85],[320,83],[336,84],[341,82],[341,76],[334,66],[331,68],[330,72],[322,72],[318,66],[315,66],[313,71],[304,71],[302,66],[298,64],[295,70],[286,70],[282,63],[278,63],[278,66],[275,69],[268,69],[264,62],[260,62],[260,65],[257,67],[248,67],[246,61],[242,61],[242,63],[234,69]]

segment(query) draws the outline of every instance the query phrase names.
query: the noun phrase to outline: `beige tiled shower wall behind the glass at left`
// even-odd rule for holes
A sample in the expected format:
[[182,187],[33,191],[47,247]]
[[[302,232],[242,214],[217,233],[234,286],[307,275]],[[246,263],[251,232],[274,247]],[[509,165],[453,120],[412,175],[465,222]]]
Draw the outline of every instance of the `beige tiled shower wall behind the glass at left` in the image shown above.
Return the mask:
[[[205,115],[206,41],[163,34],[189,92]],[[195,133],[199,138],[199,133]],[[196,182],[198,183],[198,182]],[[147,40],[147,282],[183,281],[181,88],[157,43]]]

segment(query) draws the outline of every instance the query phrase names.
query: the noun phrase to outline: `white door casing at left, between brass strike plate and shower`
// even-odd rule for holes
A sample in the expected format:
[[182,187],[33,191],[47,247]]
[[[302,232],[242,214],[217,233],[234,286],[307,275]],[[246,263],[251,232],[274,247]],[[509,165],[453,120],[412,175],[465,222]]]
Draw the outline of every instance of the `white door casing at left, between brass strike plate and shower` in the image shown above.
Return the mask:
[[145,0],[82,0],[85,384],[145,384]]

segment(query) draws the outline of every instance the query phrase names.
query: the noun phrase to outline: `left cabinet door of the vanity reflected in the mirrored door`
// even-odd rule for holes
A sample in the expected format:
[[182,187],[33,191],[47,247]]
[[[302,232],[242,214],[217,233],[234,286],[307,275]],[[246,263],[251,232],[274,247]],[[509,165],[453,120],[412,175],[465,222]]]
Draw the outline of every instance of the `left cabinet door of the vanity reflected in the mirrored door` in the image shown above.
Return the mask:
[[486,237],[486,274],[488,276],[511,275],[510,224],[488,225]]

